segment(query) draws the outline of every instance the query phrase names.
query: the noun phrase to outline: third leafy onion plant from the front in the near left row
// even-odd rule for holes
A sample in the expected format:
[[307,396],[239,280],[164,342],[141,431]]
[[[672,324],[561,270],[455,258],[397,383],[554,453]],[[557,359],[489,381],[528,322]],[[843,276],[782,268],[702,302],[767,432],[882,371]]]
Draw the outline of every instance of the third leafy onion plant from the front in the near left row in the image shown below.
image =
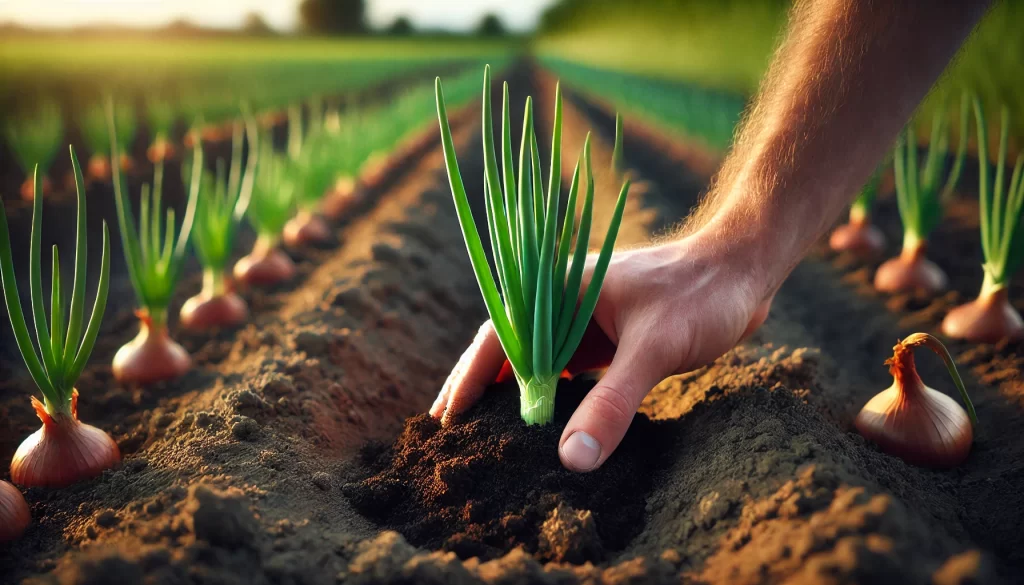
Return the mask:
[[[203,265],[203,290],[181,306],[181,325],[203,331],[217,327],[238,325],[249,316],[246,301],[231,288],[227,276],[227,262],[234,249],[239,224],[246,215],[252,200],[255,180],[257,132],[255,121],[247,120],[249,159],[242,171],[242,124],[234,125],[231,139],[231,166],[224,176],[224,165],[218,161],[217,173],[207,173],[200,187],[193,226],[193,246]],[[197,140],[199,140],[197,138]],[[197,149],[202,149],[198,142]]]

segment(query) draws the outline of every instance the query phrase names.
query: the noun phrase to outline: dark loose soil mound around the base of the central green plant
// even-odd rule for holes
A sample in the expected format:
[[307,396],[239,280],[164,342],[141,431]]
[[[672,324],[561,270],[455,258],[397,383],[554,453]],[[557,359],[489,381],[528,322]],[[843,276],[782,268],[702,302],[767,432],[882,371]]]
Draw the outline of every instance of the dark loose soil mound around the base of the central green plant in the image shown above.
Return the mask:
[[353,506],[409,542],[461,558],[496,558],[516,547],[542,560],[600,562],[643,528],[644,506],[665,465],[664,427],[640,414],[614,455],[591,473],[565,469],[558,442],[591,380],[562,381],[555,421],[527,426],[514,383],[497,384],[445,425],[409,419],[387,448],[362,452],[347,484]]

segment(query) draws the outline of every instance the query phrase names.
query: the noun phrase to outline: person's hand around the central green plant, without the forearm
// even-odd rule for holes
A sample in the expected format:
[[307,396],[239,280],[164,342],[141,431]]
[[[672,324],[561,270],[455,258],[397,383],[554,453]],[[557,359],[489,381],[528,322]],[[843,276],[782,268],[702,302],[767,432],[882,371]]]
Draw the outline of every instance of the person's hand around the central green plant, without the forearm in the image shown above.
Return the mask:
[[[590,281],[592,262],[585,276]],[[771,298],[749,255],[699,233],[611,257],[593,321],[570,375],[607,367],[559,442],[562,464],[599,467],[618,446],[644,396],[668,376],[707,365],[753,333]],[[490,322],[444,382],[430,414],[445,422],[469,408],[507,368]]]

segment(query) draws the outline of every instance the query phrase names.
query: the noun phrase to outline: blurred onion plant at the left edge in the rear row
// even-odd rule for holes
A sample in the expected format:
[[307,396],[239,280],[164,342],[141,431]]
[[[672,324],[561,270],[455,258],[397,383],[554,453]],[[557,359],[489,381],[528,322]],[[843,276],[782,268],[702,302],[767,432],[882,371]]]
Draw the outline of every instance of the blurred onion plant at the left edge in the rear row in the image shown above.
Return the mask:
[[30,112],[15,116],[7,124],[7,143],[14,153],[17,164],[25,172],[25,182],[22,183],[22,199],[32,201],[35,196],[33,169],[39,169],[43,174],[42,194],[50,191],[50,179],[46,177],[53,159],[60,148],[63,136],[63,119],[60,117],[60,106],[56,101],[44,100]]

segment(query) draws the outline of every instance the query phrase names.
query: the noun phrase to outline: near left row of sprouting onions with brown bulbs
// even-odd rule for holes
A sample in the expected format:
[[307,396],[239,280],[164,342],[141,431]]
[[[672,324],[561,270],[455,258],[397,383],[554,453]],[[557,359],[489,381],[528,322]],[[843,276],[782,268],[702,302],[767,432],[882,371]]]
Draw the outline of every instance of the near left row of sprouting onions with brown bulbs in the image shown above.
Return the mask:
[[[456,77],[450,96],[462,105],[475,96],[476,74]],[[206,169],[202,141],[196,139],[189,164],[182,173],[188,185],[187,204],[180,222],[173,207],[163,205],[164,166],[158,162],[151,189],[141,189],[137,217],[133,213],[118,166],[113,169],[118,221],[125,262],[136,297],[139,333],[114,357],[115,377],[125,384],[148,385],[177,378],[191,368],[191,358],[169,334],[168,307],[180,280],[189,248],[203,267],[203,290],[181,309],[180,324],[211,332],[236,327],[248,318],[245,301],[233,291],[243,287],[273,286],[295,275],[291,258],[281,250],[324,244],[332,231],[322,214],[341,219],[358,207],[368,191],[398,171],[434,134],[412,133],[433,112],[431,87],[413,89],[385,106],[349,111],[344,117],[313,109],[307,121],[290,111],[286,153],[274,152],[269,136],[261,134],[252,118],[234,127],[231,159]],[[118,136],[113,106],[108,110],[110,135]],[[111,140],[115,158],[117,139]],[[387,154],[389,153],[390,154]],[[78,194],[76,261],[71,301],[61,287],[59,258],[53,248],[49,317],[42,298],[41,232],[43,197],[34,198],[29,281],[34,327],[30,330],[18,295],[12,246],[6,215],[0,217],[0,266],[4,298],[17,346],[29,373],[43,395],[33,405],[43,427],[18,448],[11,463],[11,479],[26,487],[60,488],[93,477],[120,461],[110,436],[78,420],[75,383],[86,367],[99,334],[111,284],[111,243],[103,225],[102,257],[91,316],[86,311],[88,238],[82,168],[74,149],[72,165]],[[37,173],[34,186],[39,193]],[[253,250],[228,262],[236,249],[242,221],[257,233]],[[88,317],[88,319],[86,319]],[[34,331],[36,343],[32,340]],[[24,531],[28,508],[9,486],[3,487],[0,512],[2,539]]]

